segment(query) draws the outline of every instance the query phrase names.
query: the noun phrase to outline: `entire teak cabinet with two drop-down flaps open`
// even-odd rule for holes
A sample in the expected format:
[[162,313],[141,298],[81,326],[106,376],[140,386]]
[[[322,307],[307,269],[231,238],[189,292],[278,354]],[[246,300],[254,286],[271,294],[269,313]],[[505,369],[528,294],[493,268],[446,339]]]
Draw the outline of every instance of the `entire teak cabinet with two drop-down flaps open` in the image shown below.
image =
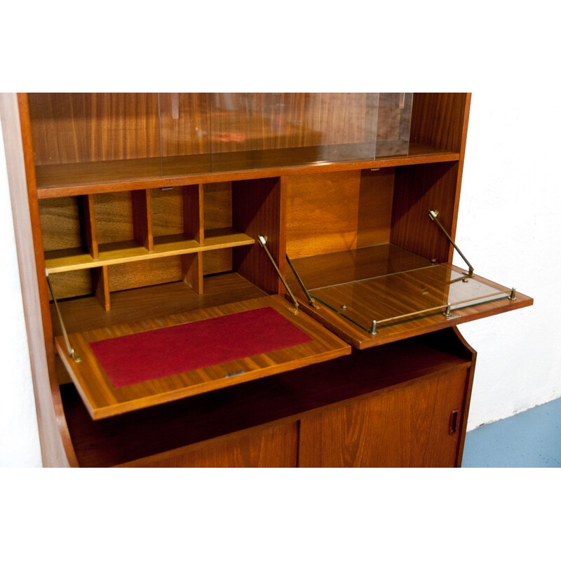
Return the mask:
[[469,102],[2,94],[43,464],[461,465]]

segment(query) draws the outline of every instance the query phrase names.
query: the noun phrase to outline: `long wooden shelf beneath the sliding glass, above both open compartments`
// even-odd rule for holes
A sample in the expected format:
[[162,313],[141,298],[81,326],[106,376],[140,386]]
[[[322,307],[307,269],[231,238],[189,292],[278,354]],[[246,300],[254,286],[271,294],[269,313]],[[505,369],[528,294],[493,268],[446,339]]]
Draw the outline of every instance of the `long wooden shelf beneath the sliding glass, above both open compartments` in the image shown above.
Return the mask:
[[[169,158],[144,158],[36,166],[39,198],[55,198],[111,191],[174,187],[205,182],[250,180],[280,175],[323,173],[396,165],[458,161],[459,153],[410,144],[405,156],[367,158],[360,146],[344,161],[320,161],[321,147],[230,152]],[[343,148],[342,148],[343,150]],[[357,156],[358,154],[358,156]]]

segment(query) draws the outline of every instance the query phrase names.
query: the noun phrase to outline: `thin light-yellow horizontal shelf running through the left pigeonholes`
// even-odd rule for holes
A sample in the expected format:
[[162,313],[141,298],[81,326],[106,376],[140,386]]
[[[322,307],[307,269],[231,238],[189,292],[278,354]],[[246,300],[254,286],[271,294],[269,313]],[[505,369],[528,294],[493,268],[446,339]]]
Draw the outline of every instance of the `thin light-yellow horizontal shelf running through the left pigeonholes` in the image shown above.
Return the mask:
[[134,241],[100,244],[99,257],[97,258],[76,248],[49,251],[45,254],[45,265],[48,273],[63,273],[143,261],[144,259],[158,259],[201,251],[236,248],[240,245],[252,245],[253,243],[255,243],[255,240],[250,236],[231,228],[224,228],[208,231],[203,243],[185,239],[184,236],[156,238],[154,240],[154,250],[147,250]]

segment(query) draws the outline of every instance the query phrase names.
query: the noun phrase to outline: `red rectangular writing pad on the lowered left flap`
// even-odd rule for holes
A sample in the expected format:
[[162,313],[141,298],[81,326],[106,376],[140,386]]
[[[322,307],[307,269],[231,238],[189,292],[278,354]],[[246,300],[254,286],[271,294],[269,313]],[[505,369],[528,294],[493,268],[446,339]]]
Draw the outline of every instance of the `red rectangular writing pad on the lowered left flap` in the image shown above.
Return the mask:
[[311,342],[270,307],[90,342],[115,388]]

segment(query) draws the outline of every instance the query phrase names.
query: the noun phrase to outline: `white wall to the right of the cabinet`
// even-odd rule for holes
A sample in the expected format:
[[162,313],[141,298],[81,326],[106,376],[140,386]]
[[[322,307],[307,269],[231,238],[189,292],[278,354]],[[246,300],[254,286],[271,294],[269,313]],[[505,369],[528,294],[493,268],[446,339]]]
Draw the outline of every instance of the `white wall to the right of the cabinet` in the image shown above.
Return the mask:
[[468,430],[561,396],[561,103],[543,93],[472,97],[456,242],[535,304],[460,328],[478,351]]

